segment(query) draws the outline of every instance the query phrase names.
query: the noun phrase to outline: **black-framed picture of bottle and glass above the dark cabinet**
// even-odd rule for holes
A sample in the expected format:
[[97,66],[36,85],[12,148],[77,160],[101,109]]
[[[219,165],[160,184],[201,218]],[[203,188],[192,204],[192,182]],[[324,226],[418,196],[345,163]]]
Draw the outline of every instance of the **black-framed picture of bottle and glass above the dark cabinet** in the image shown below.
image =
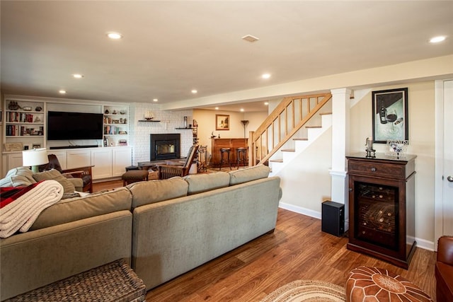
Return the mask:
[[373,141],[408,140],[408,88],[373,91]]

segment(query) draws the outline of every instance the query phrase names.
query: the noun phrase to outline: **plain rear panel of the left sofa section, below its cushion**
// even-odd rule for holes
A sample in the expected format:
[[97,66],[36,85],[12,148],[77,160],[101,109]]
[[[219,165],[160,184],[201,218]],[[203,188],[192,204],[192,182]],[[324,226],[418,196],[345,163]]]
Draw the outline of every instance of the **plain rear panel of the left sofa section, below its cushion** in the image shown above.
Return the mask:
[[131,257],[132,214],[116,211],[0,239],[0,300]]

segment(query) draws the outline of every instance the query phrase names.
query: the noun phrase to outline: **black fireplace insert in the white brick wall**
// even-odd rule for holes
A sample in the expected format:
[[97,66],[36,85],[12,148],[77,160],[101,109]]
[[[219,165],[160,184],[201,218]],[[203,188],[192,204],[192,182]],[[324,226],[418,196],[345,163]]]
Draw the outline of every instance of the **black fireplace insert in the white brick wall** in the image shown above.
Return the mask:
[[150,134],[150,161],[180,158],[180,134]]

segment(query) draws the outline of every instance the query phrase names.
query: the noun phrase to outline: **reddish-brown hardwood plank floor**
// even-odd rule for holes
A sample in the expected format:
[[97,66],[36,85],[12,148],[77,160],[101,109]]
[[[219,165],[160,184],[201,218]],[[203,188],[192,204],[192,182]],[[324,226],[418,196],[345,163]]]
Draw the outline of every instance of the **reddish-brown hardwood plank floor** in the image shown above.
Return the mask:
[[[100,188],[121,186],[111,183]],[[408,270],[346,249],[347,237],[321,232],[321,220],[279,209],[277,227],[147,293],[147,301],[260,301],[297,279],[345,285],[348,273],[382,267],[413,281],[435,301],[435,252],[417,248]]]

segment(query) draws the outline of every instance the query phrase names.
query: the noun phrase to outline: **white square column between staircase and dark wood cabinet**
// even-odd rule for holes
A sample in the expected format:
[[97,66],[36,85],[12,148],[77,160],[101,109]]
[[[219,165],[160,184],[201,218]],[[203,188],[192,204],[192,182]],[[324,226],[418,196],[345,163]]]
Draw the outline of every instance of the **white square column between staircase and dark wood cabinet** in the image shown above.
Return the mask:
[[346,158],[349,151],[349,113],[351,90],[340,88],[332,93],[332,168],[331,198],[345,204],[345,231],[349,228],[348,178]]

